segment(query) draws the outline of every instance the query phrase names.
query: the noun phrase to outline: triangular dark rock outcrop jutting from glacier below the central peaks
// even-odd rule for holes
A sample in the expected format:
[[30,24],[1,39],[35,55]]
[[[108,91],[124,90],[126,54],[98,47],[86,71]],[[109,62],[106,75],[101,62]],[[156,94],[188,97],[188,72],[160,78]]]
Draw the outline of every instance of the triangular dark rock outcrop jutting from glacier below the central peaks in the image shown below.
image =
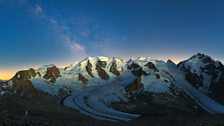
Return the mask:
[[141,82],[141,76],[137,76],[137,78],[131,83],[129,84],[127,87],[125,87],[125,90],[127,92],[139,92],[139,91],[143,91],[144,89],[144,85]]

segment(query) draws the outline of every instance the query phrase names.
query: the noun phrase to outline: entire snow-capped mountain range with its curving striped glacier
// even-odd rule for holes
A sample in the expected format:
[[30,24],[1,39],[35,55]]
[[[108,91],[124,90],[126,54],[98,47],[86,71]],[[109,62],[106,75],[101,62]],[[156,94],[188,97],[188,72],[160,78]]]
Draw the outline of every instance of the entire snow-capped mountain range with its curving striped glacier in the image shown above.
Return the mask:
[[178,64],[99,56],[65,68],[51,64],[21,70],[0,82],[1,97],[35,99],[40,92],[102,121],[130,122],[150,113],[222,114],[224,66],[201,53]]

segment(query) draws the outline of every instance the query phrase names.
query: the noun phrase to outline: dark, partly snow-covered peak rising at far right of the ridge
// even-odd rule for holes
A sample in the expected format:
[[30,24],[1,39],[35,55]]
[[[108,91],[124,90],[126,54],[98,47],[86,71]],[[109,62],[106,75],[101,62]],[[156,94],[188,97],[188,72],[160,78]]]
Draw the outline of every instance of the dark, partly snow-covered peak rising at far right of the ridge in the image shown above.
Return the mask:
[[224,87],[224,67],[220,61],[198,53],[178,64],[178,68],[186,73],[186,80],[205,94],[222,96],[219,91]]

